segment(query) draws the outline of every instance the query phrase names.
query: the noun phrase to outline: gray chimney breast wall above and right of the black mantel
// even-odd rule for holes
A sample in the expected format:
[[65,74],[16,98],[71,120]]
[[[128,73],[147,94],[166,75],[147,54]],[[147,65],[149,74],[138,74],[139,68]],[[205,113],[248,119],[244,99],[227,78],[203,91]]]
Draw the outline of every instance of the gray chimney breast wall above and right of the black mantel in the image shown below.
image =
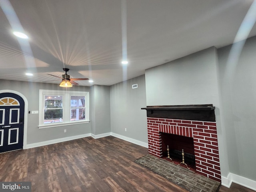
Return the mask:
[[221,125],[218,55],[215,47],[147,69],[147,106],[213,104],[216,115],[220,167],[228,176],[226,133]]

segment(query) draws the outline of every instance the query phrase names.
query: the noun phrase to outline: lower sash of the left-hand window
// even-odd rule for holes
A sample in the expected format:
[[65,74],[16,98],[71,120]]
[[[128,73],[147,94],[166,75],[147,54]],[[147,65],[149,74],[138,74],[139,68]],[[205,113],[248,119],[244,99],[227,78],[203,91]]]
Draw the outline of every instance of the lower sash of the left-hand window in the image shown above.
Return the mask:
[[63,121],[63,109],[45,109],[44,124]]

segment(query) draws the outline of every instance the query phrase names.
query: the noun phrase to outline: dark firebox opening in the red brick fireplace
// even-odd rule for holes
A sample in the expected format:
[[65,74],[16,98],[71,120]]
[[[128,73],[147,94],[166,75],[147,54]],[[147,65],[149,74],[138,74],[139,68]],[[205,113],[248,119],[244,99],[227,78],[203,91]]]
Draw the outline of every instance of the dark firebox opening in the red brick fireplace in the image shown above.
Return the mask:
[[187,164],[187,166],[191,170],[196,171],[196,160],[195,160],[193,138],[181,136],[181,135],[175,135],[175,134],[168,134],[163,132],[160,132],[160,135],[162,140],[162,152],[163,152],[162,158],[166,159],[168,157],[168,150],[167,150],[167,146],[168,146],[170,158],[175,164],[180,164],[180,162],[182,162],[182,150],[183,150],[184,162]]

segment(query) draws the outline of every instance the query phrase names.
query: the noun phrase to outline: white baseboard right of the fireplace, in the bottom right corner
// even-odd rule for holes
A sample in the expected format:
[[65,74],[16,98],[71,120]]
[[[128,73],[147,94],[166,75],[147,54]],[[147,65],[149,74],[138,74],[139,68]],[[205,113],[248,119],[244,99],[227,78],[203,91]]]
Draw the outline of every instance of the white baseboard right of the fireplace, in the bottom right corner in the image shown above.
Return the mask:
[[221,184],[225,187],[230,188],[230,185],[232,184],[232,182],[256,191],[256,181],[254,180],[251,180],[233,173],[229,173],[226,178],[221,177]]

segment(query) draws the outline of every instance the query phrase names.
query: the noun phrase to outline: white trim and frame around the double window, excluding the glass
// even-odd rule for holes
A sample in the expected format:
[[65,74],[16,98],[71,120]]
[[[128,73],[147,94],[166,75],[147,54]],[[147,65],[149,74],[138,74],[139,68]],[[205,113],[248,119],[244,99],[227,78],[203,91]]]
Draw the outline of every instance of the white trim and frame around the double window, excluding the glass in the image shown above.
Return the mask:
[[[64,112],[63,110],[63,122],[53,123],[53,124],[44,124],[44,96],[45,95],[62,95],[63,98],[63,108],[68,108],[68,112]],[[67,121],[70,119],[70,96],[85,96],[86,98],[86,119],[79,121]],[[39,125],[38,128],[51,128],[51,127],[59,127],[59,126],[68,126],[75,124],[83,124],[90,122],[90,106],[89,106],[89,92],[81,92],[81,91],[62,91],[62,90],[39,90]]]

